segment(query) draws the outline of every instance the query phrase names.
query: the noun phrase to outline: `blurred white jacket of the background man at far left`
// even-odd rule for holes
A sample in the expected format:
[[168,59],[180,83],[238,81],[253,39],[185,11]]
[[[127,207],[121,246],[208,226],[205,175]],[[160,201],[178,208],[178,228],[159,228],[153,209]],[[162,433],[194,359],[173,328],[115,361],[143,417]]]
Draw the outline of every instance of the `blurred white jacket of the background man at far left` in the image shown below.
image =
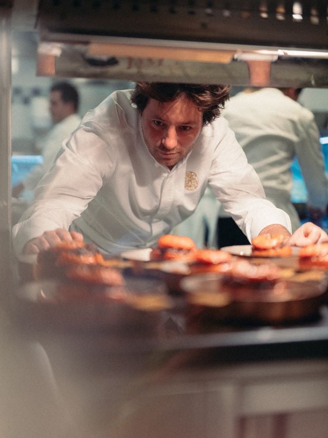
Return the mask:
[[34,190],[44,174],[51,168],[60,150],[62,141],[65,140],[79,126],[81,117],[78,114],[71,114],[56,123],[48,132],[42,146],[42,164],[35,166],[23,179],[22,184],[27,190]]

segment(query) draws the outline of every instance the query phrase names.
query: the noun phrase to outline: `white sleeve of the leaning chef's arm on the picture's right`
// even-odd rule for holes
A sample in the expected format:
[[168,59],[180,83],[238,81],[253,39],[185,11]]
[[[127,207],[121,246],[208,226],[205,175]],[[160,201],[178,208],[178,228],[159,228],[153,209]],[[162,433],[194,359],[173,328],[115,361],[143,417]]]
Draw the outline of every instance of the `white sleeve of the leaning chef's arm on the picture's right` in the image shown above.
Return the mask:
[[265,199],[261,181],[231,130],[218,147],[208,182],[249,241],[272,224],[283,225],[291,233],[289,216]]

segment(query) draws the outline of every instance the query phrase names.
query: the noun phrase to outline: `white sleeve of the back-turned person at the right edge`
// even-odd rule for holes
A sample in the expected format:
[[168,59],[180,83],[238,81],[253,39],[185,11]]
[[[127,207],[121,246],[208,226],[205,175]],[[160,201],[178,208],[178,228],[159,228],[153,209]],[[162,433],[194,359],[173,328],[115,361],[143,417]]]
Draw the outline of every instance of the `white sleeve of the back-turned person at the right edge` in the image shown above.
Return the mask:
[[325,210],[328,203],[328,180],[325,160],[320,144],[320,134],[314,118],[300,120],[300,139],[296,155],[308,192],[311,207]]

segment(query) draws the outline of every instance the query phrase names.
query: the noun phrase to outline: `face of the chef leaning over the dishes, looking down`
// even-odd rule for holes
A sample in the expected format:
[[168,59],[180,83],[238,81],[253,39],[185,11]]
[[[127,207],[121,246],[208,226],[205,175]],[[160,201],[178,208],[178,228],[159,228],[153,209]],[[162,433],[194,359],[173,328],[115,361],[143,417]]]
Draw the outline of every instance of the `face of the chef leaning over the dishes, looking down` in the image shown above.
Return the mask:
[[193,148],[203,127],[203,113],[184,95],[172,102],[149,99],[141,121],[149,152],[172,169]]

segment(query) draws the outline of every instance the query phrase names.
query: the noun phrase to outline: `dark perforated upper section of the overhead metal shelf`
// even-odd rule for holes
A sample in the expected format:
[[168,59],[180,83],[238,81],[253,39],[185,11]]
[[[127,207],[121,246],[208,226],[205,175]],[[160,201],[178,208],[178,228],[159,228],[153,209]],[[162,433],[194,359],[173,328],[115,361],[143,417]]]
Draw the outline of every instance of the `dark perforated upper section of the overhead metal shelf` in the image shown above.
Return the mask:
[[[85,19],[87,17],[87,20]],[[39,6],[52,33],[224,44],[327,48],[327,2],[52,1]]]

